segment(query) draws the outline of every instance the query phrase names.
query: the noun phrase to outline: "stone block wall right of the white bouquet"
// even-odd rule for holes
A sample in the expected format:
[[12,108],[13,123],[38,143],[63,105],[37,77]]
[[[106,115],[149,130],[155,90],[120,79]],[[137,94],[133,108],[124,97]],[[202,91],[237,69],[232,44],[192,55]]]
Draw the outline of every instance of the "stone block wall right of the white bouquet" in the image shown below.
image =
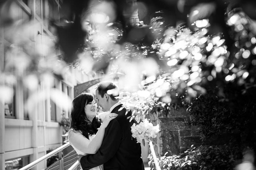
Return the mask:
[[166,152],[168,155],[176,155],[190,148],[191,145],[200,146],[201,140],[196,133],[196,127],[184,124],[189,119],[185,108],[171,110],[168,116],[161,113],[150,114],[150,121],[159,124],[160,132],[157,135],[155,152],[158,157]]

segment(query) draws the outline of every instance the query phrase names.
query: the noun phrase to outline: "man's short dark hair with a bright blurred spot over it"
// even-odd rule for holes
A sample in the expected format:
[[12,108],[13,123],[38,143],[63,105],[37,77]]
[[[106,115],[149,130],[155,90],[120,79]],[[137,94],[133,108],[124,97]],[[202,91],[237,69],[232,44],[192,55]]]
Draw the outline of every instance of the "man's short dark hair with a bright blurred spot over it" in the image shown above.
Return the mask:
[[98,93],[101,97],[104,94],[108,94],[112,100],[117,100],[116,97],[119,96],[119,89],[118,87],[111,81],[103,81],[101,84],[97,86]]

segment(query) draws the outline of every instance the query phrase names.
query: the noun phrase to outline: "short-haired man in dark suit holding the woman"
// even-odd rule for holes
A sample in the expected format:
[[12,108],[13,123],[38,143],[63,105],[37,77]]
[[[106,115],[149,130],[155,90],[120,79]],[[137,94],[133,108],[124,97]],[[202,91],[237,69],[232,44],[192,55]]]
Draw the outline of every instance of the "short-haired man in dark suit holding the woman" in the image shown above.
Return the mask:
[[107,126],[102,145],[96,154],[80,159],[83,170],[104,164],[104,170],[144,170],[141,145],[132,140],[127,109],[119,102],[119,90],[112,82],[102,82],[96,90],[98,105],[103,111],[118,114]]

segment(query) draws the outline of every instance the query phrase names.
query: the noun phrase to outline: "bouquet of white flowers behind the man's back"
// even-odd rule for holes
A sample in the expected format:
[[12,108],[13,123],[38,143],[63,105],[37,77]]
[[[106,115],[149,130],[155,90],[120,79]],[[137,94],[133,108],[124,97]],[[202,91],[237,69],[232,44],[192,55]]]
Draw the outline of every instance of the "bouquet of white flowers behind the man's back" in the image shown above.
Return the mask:
[[145,146],[146,142],[153,142],[155,143],[154,138],[156,134],[160,131],[159,124],[153,126],[147,119],[140,120],[137,123],[132,124],[131,127],[132,137],[137,139],[137,143],[142,143]]

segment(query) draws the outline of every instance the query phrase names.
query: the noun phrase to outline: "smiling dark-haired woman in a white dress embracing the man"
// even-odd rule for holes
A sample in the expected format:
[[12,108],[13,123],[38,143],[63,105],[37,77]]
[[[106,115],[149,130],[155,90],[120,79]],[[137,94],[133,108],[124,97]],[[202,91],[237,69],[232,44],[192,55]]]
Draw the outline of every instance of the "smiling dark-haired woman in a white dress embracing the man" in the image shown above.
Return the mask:
[[[68,133],[70,145],[78,155],[95,154],[99,150],[105,128],[110,120],[118,115],[115,113],[104,113],[102,119],[96,116],[96,104],[93,95],[89,93],[79,94],[74,98],[71,111],[71,124]],[[102,124],[101,124],[102,120]],[[103,170],[103,165],[92,168],[92,170]]]

